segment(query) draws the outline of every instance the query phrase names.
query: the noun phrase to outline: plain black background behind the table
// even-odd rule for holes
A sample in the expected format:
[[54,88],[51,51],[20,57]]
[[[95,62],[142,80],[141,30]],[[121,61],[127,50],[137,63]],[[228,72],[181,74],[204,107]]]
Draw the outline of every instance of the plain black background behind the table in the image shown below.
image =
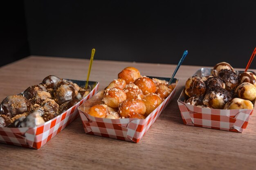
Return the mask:
[[[25,0],[2,8],[0,65],[28,55],[245,68],[256,1]],[[256,68],[256,61],[251,65]]]

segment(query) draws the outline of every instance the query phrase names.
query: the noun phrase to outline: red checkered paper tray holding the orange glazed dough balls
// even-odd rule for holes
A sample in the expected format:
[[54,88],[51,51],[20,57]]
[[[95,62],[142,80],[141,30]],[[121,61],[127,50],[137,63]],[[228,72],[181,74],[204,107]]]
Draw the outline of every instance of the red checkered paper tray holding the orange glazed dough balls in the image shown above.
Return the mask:
[[[148,76],[150,77],[150,76]],[[170,78],[164,77],[150,77],[169,81]],[[173,82],[178,83],[177,79],[173,79]],[[162,102],[146,119],[124,118],[124,119],[106,119],[93,117],[86,112],[91,106],[96,104],[103,104],[103,90],[94,95],[91,99],[82,104],[78,110],[83,121],[83,127],[85,133],[91,135],[97,135],[102,137],[109,137],[114,139],[120,139],[124,141],[131,141],[138,143],[140,139],[145,135],[150,126],[160,116],[162,111],[166,108],[168,103],[173,99],[176,91],[176,86],[171,94]]]

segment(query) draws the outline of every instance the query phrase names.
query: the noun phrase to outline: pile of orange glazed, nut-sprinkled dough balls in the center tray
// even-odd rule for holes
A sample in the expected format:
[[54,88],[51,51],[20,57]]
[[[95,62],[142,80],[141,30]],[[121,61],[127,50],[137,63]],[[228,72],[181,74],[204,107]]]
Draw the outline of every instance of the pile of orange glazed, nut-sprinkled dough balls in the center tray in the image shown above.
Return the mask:
[[126,67],[104,89],[103,104],[92,106],[87,113],[107,119],[145,119],[173,88],[164,80],[141,76],[136,68]]

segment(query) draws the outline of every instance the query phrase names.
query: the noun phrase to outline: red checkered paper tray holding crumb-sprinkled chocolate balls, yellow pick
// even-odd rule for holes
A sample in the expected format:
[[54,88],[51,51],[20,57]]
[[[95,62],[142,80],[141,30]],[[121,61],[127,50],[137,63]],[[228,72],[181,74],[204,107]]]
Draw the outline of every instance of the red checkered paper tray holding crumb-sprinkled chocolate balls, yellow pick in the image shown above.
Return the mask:
[[[85,81],[72,79],[66,80],[70,80],[79,86],[85,86]],[[0,143],[34,149],[41,148],[74,119],[76,119],[79,116],[77,110],[78,107],[97,93],[99,87],[98,82],[89,82],[89,86],[92,87],[92,91],[86,97],[81,99],[80,102],[42,125],[34,128],[0,127]]]

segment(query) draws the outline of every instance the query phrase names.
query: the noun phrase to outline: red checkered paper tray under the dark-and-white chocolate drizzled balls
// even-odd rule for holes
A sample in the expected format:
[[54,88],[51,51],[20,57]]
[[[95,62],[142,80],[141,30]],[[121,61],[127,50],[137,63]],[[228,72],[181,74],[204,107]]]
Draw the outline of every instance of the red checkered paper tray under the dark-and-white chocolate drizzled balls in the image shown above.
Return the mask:
[[[243,71],[236,71],[237,74]],[[194,75],[204,77],[211,75],[211,68],[201,68]],[[211,109],[193,106],[184,103],[186,99],[185,89],[182,91],[178,105],[183,123],[190,126],[227,130],[232,132],[243,132],[247,127],[253,110],[249,109]],[[255,105],[254,105],[255,108]]]

